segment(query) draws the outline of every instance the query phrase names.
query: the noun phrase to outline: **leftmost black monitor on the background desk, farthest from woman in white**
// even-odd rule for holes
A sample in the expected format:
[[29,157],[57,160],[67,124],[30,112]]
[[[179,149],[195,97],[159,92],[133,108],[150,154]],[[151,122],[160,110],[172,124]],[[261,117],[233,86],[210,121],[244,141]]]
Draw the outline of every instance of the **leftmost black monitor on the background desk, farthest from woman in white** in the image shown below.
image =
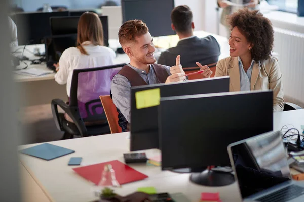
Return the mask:
[[16,13],[12,15],[17,26],[18,45],[44,43],[44,37],[51,35],[50,18],[68,15],[68,11]]

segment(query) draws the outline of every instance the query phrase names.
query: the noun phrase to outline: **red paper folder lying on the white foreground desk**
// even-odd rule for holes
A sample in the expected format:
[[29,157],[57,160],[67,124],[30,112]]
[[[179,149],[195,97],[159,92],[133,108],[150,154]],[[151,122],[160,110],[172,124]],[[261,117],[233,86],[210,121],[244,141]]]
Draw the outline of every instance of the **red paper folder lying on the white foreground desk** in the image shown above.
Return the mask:
[[80,176],[98,185],[101,179],[102,171],[106,164],[112,165],[112,168],[115,171],[116,180],[121,185],[129,182],[143,180],[148,177],[147,175],[140,173],[137,170],[134,170],[130,166],[123,164],[118,160],[89,165],[89,166],[82,166],[78,168],[73,168],[73,170],[77,172]]

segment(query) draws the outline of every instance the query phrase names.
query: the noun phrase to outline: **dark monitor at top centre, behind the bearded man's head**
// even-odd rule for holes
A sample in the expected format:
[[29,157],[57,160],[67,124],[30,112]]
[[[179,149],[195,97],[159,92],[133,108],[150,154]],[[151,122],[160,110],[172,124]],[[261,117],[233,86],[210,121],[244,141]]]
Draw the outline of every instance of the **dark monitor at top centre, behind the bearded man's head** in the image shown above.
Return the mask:
[[174,35],[171,29],[171,11],[174,0],[122,0],[123,22],[140,19],[152,36]]

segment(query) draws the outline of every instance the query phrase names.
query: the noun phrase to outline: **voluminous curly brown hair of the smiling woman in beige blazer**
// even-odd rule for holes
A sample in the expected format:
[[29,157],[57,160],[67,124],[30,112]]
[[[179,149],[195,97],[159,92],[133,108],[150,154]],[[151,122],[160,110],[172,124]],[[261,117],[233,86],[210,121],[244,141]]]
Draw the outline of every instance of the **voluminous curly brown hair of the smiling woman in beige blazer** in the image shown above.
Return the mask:
[[250,11],[247,8],[231,14],[227,18],[230,28],[237,27],[253,44],[251,57],[255,61],[265,60],[271,56],[274,45],[274,29],[268,18],[259,11]]

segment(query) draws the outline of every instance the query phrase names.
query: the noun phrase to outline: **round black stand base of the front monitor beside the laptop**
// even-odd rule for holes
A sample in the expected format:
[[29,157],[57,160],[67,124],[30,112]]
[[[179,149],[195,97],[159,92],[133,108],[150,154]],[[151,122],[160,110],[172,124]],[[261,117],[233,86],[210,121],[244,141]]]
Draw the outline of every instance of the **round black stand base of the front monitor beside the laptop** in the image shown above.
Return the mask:
[[190,181],[203,186],[226,186],[234,183],[234,175],[231,173],[206,169],[201,173],[192,173]]

